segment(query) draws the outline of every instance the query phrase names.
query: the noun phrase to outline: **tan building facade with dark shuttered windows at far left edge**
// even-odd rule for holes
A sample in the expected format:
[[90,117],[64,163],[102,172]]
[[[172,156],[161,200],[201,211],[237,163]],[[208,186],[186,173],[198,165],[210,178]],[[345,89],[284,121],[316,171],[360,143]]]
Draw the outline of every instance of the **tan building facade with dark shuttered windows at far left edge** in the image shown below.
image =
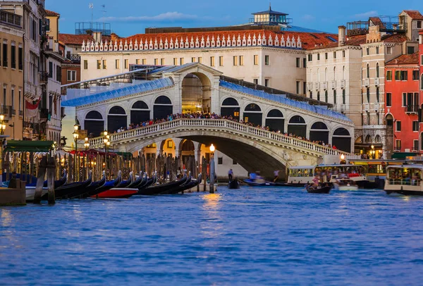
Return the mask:
[[23,18],[0,11],[0,114],[6,123],[5,135],[23,138],[24,39]]

